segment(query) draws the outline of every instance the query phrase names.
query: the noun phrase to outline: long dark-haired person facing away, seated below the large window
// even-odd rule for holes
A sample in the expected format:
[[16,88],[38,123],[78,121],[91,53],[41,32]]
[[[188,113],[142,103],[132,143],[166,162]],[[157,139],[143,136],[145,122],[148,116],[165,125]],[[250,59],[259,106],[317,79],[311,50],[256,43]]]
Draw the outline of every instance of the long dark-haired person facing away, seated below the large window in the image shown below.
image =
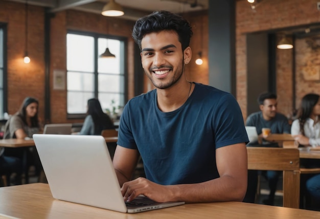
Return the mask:
[[110,117],[102,111],[101,104],[96,98],[88,100],[86,114],[79,135],[101,135],[103,129],[115,128]]

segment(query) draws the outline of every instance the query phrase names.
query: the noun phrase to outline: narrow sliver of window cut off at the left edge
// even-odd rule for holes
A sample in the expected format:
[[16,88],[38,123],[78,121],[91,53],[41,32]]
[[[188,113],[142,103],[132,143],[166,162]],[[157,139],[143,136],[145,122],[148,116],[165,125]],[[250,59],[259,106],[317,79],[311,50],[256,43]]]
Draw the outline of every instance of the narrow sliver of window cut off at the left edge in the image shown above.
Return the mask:
[[6,26],[0,23],[0,120],[5,119],[4,113],[7,112],[5,45]]

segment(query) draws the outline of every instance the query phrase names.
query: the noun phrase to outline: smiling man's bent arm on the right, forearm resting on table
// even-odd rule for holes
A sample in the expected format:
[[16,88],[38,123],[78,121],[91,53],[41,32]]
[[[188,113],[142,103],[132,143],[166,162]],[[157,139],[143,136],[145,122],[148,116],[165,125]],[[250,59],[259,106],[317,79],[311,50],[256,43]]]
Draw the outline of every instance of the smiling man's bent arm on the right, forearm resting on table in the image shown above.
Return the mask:
[[156,202],[242,201],[247,189],[247,151],[245,143],[216,149],[220,177],[197,184],[158,185],[144,178],[123,184],[125,201],[144,194]]

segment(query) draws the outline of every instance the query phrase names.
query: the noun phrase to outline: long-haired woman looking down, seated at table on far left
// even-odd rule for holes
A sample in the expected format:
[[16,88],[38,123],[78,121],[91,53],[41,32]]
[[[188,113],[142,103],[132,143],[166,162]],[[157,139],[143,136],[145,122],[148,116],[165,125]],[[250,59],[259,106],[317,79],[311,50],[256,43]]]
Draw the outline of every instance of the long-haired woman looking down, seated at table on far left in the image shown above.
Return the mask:
[[[27,139],[32,138],[33,134],[40,132],[41,127],[38,119],[39,102],[33,97],[26,97],[22,102],[19,111],[12,115],[6,125],[4,139]],[[35,148],[28,148],[27,160],[30,162],[27,166],[34,165],[37,176],[42,169],[39,156]],[[22,160],[26,148],[6,148],[5,156],[16,157]],[[23,168],[27,168],[26,166]]]

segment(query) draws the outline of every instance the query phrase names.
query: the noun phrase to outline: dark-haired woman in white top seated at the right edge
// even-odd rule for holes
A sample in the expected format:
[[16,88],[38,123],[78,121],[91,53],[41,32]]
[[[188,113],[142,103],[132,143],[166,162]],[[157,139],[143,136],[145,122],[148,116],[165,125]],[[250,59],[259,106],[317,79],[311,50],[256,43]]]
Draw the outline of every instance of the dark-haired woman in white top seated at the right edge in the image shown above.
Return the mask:
[[[298,119],[292,122],[291,135],[301,146],[320,146],[319,97],[317,94],[305,95],[298,111]],[[306,168],[320,167],[320,161],[316,159],[300,159],[300,165]],[[306,198],[310,198],[310,202],[306,202],[306,208],[320,210],[320,174],[302,174],[302,196],[305,191],[307,192]]]

